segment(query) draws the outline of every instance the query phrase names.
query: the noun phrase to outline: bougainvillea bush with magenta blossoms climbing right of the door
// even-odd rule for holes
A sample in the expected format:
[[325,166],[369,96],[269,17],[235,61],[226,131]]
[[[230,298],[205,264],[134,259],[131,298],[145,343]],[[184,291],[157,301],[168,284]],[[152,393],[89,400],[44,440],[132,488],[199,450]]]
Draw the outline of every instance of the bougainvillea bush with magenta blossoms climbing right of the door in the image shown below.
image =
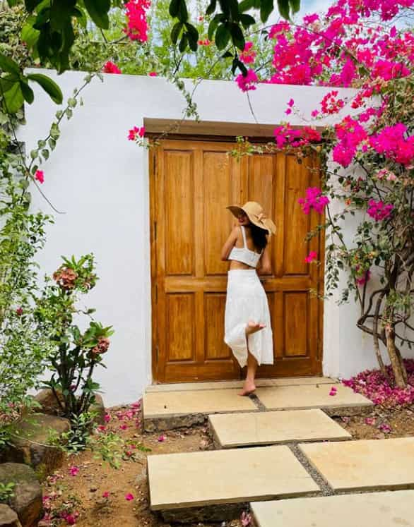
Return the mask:
[[[396,20],[401,27],[413,3],[338,0],[324,16],[277,23],[268,32],[271,69],[263,75],[250,63],[248,75],[236,79],[247,92],[260,83],[327,87],[303,128],[290,125],[301,109],[286,101],[273,149],[290,149],[299,160],[319,157],[319,168],[311,165],[320,171],[321,188],[308,188],[297,206],[320,215],[309,237],[326,231],[326,294],[341,285],[345,271],[342,300],[355,296],[357,327],[372,336],[385,377],[386,349],[389,380],[398,387],[408,382],[400,348],[414,341],[414,35]],[[340,97],[338,87],[355,90]],[[317,129],[326,116],[337,116],[336,124]],[[257,151],[241,143],[242,152]],[[350,216],[356,229],[348,241],[343,229]],[[312,253],[306,261],[318,258]]]

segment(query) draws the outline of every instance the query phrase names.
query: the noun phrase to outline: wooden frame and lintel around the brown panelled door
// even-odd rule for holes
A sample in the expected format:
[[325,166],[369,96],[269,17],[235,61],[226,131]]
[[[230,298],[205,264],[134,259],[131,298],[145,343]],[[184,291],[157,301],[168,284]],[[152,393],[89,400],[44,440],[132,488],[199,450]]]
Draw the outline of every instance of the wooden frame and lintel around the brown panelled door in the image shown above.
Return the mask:
[[[177,121],[175,119],[143,119],[146,128],[146,138],[153,143],[153,140],[165,134],[166,140],[187,140],[187,141],[217,141],[233,142],[237,135],[249,137],[252,143],[268,143],[273,139],[274,125],[254,124],[254,123],[226,123],[218,121]],[[294,126],[292,128],[302,128]],[[156,178],[158,166],[156,157],[158,147],[152,145],[149,149],[149,193],[150,193],[150,279],[151,279],[151,372],[153,383],[158,383],[158,325],[157,325],[157,204],[155,200]],[[322,218],[323,221],[323,218]],[[318,272],[318,294],[324,293],[324,269],[325,269],[325,238],[319,238],[319,255],[321,265]],[[319,301],[318,309],[318,342],[317,357],[315,361],[319,365],[317,375],[322,375],[322,358],[324,351],[324,301]],[[314,375],[314,374],[313,374]]]

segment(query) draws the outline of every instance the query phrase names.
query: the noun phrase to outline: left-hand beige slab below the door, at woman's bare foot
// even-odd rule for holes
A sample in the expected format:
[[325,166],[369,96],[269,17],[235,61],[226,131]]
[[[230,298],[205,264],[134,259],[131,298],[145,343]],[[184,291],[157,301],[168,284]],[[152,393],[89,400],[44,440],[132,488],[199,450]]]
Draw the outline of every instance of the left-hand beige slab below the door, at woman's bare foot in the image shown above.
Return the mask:
[[257,410],[249,397],[237,389],[150,393],[143,396],[144,418],[182,416],[191,413],[240,412]]

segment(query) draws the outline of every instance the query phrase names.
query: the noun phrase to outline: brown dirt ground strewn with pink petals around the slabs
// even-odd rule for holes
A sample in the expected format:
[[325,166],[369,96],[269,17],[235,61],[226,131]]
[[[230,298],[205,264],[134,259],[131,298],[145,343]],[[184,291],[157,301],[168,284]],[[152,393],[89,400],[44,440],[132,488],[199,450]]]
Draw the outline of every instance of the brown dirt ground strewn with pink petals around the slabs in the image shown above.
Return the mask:
[[[127,407],[110,408],[107,427],[128,442],[141,442],[148,452],[134,449],[119,469],[94,459],[90,452],[68,456],[54,477],[45,482],[44,495],[52,496],[53,507],[76,502],[78,527],[167,527],[149,510],[146,456],[173,452],[197,452],[212,448],[206,426],[172,430],[160,435],[143,434],[137,420],[119,420]],[[355,440],[414,436],[414,406],[390,411],[376,407],[369,415],[335,418]],[[131,456],[129,456],[131,454]],[[73,468],[74,467],[74,468]],[[76,515],[75,515],[76,516]],[[67,525],[62,521],[60,525]],[[45,525],[50,523],[45,522]],[[242,527],[242,521],[196,523],[191,527]],[[246,525],[246,523],[244,523]]]

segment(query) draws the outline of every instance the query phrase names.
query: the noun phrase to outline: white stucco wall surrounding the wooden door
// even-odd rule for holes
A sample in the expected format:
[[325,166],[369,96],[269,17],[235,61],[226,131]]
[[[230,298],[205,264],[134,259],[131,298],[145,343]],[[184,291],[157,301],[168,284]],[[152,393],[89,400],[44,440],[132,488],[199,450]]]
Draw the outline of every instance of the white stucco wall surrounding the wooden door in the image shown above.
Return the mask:
[[[45,73],[56,78],[65,99],[84,77]],[[107,370],[97,375],[111,406],[136,400],[151,382],[148,152],[126,135],[144,117],[181,118],[184,99],[162,78],[104,76],[104,83],[94,79],[85,89],[85,104],[71,121],[62,122],[57,148],[42,165],[42,190],[64,214],[55,214],[38,260],[42,272],[50,274],[60,255],[95,254],[100,281],[85,303],[97,308],[97,320],[116,330],[105,356]],[[261,85],[250,97],[257,121],[276,124],[286,120],[290,97],[309,118],[326,91]],[[254,123],[247,97],[235,83],[203,81],[194,98],[204,121]],[[47,135],[57,109],[35,87],[35,102],[26,107],[27,126],[20,131],[27,152]],[[303,123],[295,116],[290,121]],[[52,212],[39,193],[32,194],[34,207]],[[375,359],[369,337],[355,328],[353,305],[339,307],[336,301],[327,302],[324,311],[324,373],[347,377],[374,366]]]

